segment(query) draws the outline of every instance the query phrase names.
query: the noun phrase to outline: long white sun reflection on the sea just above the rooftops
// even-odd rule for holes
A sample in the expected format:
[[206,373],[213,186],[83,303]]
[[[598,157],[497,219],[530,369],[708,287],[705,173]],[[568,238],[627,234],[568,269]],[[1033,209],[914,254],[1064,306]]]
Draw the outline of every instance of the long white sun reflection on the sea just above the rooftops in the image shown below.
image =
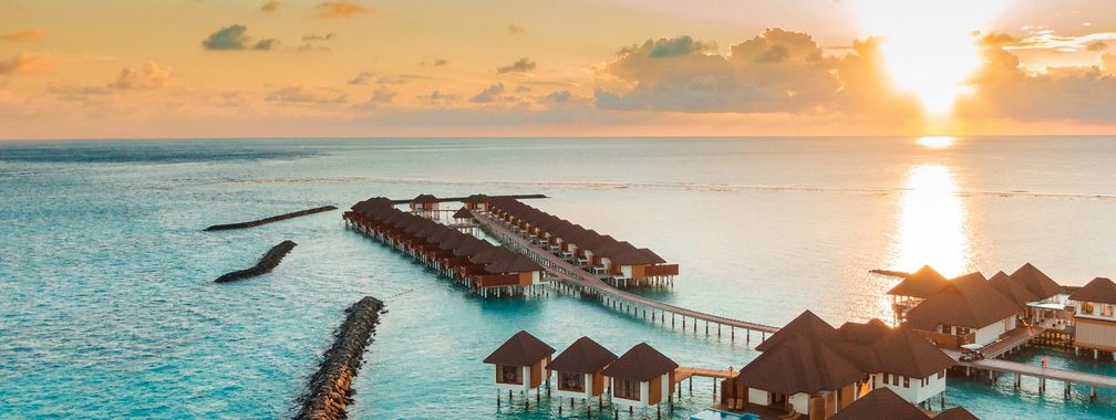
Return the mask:
[[930,264],[951,277],[971,266],[965,211],[956,193],[946,166],[918,165],[907,172],[892,270],[910,272]]

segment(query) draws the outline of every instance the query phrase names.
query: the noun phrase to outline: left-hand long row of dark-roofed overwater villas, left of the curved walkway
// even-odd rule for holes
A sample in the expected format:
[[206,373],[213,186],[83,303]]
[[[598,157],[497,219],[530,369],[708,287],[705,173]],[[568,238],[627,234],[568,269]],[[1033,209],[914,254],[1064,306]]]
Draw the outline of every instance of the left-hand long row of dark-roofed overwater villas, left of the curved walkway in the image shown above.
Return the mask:
[[527,256],[401,211],[388,198],[359,202],[343,218],[354,228],[485,295],[530,291],[542,284],[542,267]]

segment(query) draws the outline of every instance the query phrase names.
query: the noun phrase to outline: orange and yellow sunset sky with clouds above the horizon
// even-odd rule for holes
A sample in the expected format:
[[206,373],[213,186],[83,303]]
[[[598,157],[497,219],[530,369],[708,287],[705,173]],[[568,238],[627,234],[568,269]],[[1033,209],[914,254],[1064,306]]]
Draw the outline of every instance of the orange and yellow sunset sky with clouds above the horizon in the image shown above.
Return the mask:
[[0,139],[1108,135],[1108,0],[6,0]]

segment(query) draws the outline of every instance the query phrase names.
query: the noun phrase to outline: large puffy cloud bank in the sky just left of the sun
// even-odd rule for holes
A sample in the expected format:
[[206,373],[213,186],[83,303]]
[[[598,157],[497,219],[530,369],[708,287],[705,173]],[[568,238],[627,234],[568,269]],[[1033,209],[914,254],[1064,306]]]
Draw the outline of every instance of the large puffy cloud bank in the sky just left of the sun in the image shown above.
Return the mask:
[[605,109],[685,113],[807,113],[838,106],[836,61],[801,32],[773,28],[731,47],[728,57],[691,37],[660,38],[620,50],[605,72],[629,90],[598,88]]

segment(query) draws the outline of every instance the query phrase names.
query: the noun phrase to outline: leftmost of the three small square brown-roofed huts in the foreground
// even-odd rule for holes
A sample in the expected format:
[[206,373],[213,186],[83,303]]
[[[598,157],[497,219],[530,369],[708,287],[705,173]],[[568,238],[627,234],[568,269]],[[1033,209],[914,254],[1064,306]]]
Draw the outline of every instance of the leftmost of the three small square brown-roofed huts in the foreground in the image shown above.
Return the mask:
[[485,364],[496,365],[496,388],[527,392],[550,382],[547,364],[555,349],[527,331],[520,331],[484,358]]

